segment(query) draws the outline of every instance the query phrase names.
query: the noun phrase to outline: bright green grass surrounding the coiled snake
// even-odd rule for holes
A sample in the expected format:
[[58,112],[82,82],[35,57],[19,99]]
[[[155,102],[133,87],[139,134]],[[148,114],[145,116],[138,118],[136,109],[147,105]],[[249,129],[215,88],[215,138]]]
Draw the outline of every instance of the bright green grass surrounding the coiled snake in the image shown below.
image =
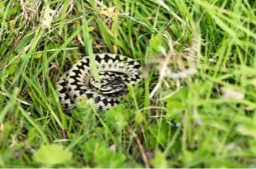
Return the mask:
[[[250,0],[1,1],[0,166],[256,167],[255,12]],[[161,66],[117,108],[81,101],[66,116],[56,81],[103,52]]]

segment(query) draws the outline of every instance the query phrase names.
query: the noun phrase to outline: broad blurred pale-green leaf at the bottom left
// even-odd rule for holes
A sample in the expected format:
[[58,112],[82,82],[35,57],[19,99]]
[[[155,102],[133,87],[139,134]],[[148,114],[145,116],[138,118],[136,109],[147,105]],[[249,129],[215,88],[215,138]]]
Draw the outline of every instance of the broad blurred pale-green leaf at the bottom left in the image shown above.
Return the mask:
[[39,150],[35,151],[35,161],[42,163],[45,167],[51,167],[55,164],[63,164],[71,160],[72,153],[63,150],[59,144],[43,145]]

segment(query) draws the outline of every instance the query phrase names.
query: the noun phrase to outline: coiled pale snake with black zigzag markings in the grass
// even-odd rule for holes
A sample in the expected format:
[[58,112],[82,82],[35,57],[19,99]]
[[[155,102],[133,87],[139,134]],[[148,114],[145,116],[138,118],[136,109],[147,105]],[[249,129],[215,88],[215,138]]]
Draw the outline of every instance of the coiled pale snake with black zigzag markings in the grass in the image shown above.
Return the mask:
[[[93,61],[97,78],[90,66]],[[84,56],[57,81],[58,97],[65,114],[71,115],[83,98],[96,111],[113,108],[129,93],[128,86],[135,86],[142,79],[140,63],[127,56],[94,54],[93,61]]]

